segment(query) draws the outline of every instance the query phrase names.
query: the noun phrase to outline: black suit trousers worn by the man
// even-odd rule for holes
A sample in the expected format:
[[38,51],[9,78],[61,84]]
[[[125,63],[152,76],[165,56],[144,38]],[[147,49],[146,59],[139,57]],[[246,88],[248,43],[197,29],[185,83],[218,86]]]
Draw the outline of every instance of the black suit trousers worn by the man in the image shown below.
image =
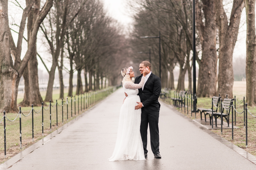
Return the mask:
[[140,135],[143,143],[144,153],[148,153],[148,124],[150,131],[151,150],[154,154],[159,152],[159,129],[158,129],[159,111],[141,112]]

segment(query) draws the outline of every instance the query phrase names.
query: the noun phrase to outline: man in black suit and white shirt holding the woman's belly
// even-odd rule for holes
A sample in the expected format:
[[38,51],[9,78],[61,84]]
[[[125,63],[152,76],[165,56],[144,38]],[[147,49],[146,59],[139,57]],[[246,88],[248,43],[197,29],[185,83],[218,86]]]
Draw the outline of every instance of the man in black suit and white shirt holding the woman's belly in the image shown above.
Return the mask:
[[[151,64],[148,61],[142,61],[140,63],[140,76],[136,77],[134,83],[139,84],[142,72],[145,68],[150,71]],[[161,158],[159,152],[159,129],[158,119],[160,103],[158,102],[159,95],[161,93],[161,80],[151,71],[146,75],[144,85],[139,89],[140,102],[135,106],[135,109],[141,108],[141,123],[140,134],[143,143],[145,158],[148,156],[147,150],[147,135],[148,124],[150,131],[150,144],[151,150],[154,153],[155,158]]]

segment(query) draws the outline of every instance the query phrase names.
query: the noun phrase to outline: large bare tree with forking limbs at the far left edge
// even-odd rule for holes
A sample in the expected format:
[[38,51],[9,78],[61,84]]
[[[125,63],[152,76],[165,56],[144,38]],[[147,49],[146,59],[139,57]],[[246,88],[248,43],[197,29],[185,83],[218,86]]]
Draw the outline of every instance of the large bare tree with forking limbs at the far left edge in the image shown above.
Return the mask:
[[[28,61],[35,52],[36,48],[36,36],[40,24],[48,14],[52,7],[53,0],[47,0],[40,10],[40,0],[31,0],[27,3],[27,7],[23,10],[22,19],[20,23],[19,38],[17,46],[15,46],[12,39],[12,34],[9,28],[8,21],[8,3],[7,1],[1,0],[1,19],[2,23],[0,26],[0,35],[2,37],[1,48],[0,48],[0,110],[6,112],[17,112],[17,94],[20,77],[22,76],[25,68],[27,67]],[[31,9],[34,8],[33,17],[33,29],[30,31],[30,40],[28,50],[21,60],[21,44],[23,39],[24,28],[26,19]],[[10,51],[11,49],[11,51]],[[12,55],[11,55],[12,52]],[[14,64],[12,61],[14,59]]]

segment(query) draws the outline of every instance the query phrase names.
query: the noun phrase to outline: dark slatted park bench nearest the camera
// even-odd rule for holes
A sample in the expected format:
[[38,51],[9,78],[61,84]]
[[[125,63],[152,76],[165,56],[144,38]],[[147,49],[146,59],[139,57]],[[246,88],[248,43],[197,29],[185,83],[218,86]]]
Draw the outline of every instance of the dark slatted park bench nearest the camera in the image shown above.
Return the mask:
[[[222,99],[220,99],[220,108],[221,108],[220,111],[221,112],[213,112],[212,113],[213,110],[206,112],[207,114],[212,115],[215,118],[215,127],[217,127],[217,118],[221,117],[221,113],[222,113],[222,117],[224,117],[226,119],[226,121],[228,123],[228,127],[229,127],[229,114],[230,114],[233,100],[234,99],[225,98],[222,101]],[[224,110],[227,111],[226,114],[224,113]],[[211,120],[211,122],[212,122],[212,120]],[[221,124],[223,124],[223,118],[221,120]]]

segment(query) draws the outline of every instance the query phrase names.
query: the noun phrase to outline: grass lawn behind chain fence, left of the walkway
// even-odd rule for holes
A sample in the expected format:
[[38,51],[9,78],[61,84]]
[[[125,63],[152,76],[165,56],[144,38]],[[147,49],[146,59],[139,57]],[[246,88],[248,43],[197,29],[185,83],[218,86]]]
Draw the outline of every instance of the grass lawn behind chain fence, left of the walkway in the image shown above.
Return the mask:
[[[76,88],[73,89],[73,96],[75,96]],[[18,94],[18,103],[23,100],[24,94]],[[46,92],[41,92],[43,99],[45,98]],[[68,95],[68,89],[64,89],[65,100],[63,103],[66,103],[66,96]],[[88,94],[87,94],[88,95]],[[84,96],[84,95],[83,95]],[[61,104],[61,99],[59,99],[59,90],[53,90],[52,106],[55,105],[56,100],[58,104]],[[63,105],[63,123],[62,123],[62,106],[58,106],[58,128],[63,124],[66,124],[70,120],[78,116],[78,102],[76,96],[76,113],[75,113],[75,103],[74,97],[72,97],[72,117],[71,117],[71,103],[68,103],[68,115],[67,115],[67,105]],[[71,97],[68,97],[68,101],[71,100]],[[87,99],[89,101],[89,99]],[[95,102],[96,103],[96,102]],[[87,104],[87,106],[89,103]],[[91,104],[92,106],[93,104]],[[44,108],[47,109],[49,102],[44,103]],[[91,107],[88,106],[88,109]],[[34,107],[34,110],[38,112],[41,107]],[[22,107],[21,111],[24,115],[28,115],[31,110],[31,107]],[[86,110],[86,100],[85,100],[85,110]],[[85,111],[84,110],[84,98],[82,97],[82,111],[81,111],[81,95],[79,96],[79,114]],[[51,108],[51,117],[52,117],[52,131],[57,129],[57,114],[56,106]],[[6,117],[10,120],[15,119],[18,113],[6,113]],[[67,119],[68,117],[68,119]],[[0,118],[2,119],[2,117]],[[4,129],[4,122],[0,124],[0,128]],[[0,131],[0,163],[10,159],[20,151],[26,149],[28,146],[34,144],[38,140],[47,136],[50,131],[50,108],[44,110],[44,136],[42,136],[42,110],[39,113],[34,112],[34,142],[32,141],[32,113],[28,117],[21,115],[21,128],[22,128],[22,149],[20,150],[20,122],[18,118],[10,122],[6,119],[6,159],[4,159],[4,131]],[[1,142],[2,141],[2,142]]]

